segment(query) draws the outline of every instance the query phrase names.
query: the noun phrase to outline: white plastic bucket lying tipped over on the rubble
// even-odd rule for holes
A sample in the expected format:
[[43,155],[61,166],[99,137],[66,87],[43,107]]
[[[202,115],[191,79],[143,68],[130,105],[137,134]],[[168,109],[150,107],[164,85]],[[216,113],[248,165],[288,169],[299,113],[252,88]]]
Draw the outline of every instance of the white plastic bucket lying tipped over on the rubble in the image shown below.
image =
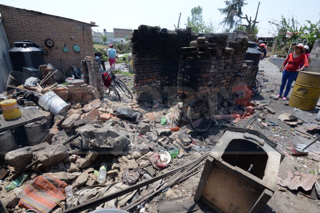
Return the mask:
[[52,91],[42,95],[38,103],[45,110],[50,111],[53,115],[60,115],[61,113],[66,112],[70,107],[68,103],[66,103]]

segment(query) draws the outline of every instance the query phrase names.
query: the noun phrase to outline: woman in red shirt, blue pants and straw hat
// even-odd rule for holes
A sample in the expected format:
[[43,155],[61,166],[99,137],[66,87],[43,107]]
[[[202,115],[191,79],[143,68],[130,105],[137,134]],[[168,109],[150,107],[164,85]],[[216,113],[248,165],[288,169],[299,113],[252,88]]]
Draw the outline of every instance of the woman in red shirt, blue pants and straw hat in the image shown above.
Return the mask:
[[[307,56],[304,54],[304,45],[298,44],[297,46],[292,46],[292,48],[294,48],[294,52],[289,54],[287,59],[285,59],[283,66],[280,68],[280,70],[283,71],[283,74],[279,95],[277,96],[280,97],[282,95],[284,87],[287,85],[282,98],[284,101],[287,100],[287,95],[290,92],[291,84],[298,75],[298,72],[309,66]],[[303,66],[299,69],[299,66],[302,63]]]

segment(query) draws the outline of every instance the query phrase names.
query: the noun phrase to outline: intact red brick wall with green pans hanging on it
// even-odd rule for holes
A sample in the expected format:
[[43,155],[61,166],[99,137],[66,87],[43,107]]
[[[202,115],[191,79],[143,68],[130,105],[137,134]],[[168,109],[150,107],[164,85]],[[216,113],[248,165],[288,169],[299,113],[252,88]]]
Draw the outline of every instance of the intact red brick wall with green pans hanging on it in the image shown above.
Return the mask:
[[[45,46],[44,41],[50,38],[54,46],[45,58],[47,63],[61,72],[61,58],[67,74],[71,66],[81,68],[81,60],[86,56],[94,57],[90,24],[5,5],[0,5],[0,13],[11,48],[14,42],[22,40],[34,41],[40,46]],[[71,37],[74,38],[70,39]],[[62,51],[64,43],[69,48],[68,53]],[[72,49],[75,44],[80,46],[80,52]]]

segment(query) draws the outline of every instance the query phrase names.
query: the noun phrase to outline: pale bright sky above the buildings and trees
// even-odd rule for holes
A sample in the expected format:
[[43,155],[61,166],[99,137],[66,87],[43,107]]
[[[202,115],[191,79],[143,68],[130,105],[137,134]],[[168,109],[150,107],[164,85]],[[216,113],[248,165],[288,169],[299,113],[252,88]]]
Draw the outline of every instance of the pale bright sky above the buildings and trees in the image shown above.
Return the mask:
[[[259,1],[247,0],[243,13],[248,17],[255,17]],[[161,0],[161,1],[106,1],[106,0],[1,0],[0,4],[13,7],[40,11],[47,14],[62,16],[70,19],[87,22],[93,21],[99,27],[92,27],[94,31],[113,32],[113,27],[127,27],[137,29],[139,25],[160,26],[161,28],[174,29],[177,26],[179,13],[181,12],[180,28],[185,28],[191,9],[196,6],[203,8],[203,19],[210,20],[216,28],[216,32],[222,32],[223,27],[219,25],[224,18],[218,8],[225,7],[223,0]],[[306,5],[305,7],[301,6]],[[306,8],[306,9],[304,9]],[[320,19],[319,0],[261,0],[257,20],[259,37],[272,37],[275,29],[268,21],[281,20],[281,15],[291,18],[292,14],[297,21],[303,25],[305,20],[317,22]],[[243,21],[243,24],[247,24]],[[299,27],[298,27],[299,28]],[[262,35],[262,36],[261,36]]]

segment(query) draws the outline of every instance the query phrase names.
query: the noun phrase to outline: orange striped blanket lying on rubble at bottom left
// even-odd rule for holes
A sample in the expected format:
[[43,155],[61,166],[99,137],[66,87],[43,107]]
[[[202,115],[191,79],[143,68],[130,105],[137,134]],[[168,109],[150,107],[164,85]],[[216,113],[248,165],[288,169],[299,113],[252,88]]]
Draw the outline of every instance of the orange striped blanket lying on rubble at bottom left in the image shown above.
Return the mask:
[[64,188],[67,186],[50,175],[38,176],[23,190],[19,207],[48,213],[57,205],[56,202],[66,199]]

